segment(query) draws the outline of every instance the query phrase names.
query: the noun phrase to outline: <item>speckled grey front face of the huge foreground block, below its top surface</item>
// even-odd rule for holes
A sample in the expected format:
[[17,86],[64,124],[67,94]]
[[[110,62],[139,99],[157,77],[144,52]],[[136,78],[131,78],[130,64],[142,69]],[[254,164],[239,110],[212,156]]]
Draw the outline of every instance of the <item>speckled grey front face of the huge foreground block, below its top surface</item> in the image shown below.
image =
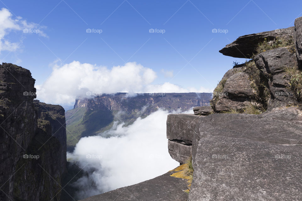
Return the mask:
[[190,201],[300,200],[301,145],[209,136],[197,146]]

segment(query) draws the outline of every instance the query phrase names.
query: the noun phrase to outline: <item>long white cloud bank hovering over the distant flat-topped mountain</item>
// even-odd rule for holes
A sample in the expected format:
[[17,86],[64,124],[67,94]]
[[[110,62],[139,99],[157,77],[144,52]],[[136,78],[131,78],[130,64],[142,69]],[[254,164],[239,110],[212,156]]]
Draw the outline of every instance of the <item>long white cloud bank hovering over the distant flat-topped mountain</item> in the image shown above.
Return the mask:
[[[77,97],[91,95],[128,93],[127,97],[136,93],[185,93],[207,92],[210,90],[194,88],[184,89],[171,83],[152,84],[157,75],[151,68],[136,62],[128,62],[124,66],[107,68],[89,63],[73,61],[58,65],[52,63],[53,72],[42,85],[36,85],[37,98],[52,104],[73,104]],[[213,90],[212,90],[213,91]]]

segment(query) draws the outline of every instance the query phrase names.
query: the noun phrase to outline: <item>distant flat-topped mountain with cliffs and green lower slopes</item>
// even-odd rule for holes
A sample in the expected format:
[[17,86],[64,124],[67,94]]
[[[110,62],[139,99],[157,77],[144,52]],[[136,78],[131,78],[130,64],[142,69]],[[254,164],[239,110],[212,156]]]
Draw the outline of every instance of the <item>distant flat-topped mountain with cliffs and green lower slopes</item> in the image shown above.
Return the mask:
[[212,93],[126,93],[76,99],[74,109],[65,112],[67,150],[73,150],[81,137],[110,129],[115,121],[133,123],[159,108],[186,111],[196,106],[209,106]]

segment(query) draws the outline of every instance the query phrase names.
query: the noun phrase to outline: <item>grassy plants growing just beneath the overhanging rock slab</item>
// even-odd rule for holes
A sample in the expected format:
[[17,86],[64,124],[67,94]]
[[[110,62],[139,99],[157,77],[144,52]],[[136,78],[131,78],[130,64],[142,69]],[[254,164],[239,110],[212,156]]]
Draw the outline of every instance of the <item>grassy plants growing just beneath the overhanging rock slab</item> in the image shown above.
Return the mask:
[[[268,40],[267,38],[265,38],[264,41],[258,43],[255,52],[256,54],[259,54],[267,50],[272,50],[278,47],[287,47],[287,46],[294,46],[294,40],[292,36],[290,36],[290,39],[288,40],[284,39],[283,37],[276,37],[273,40]],[[289,50],[291,49],[292,48],[289,47]]]

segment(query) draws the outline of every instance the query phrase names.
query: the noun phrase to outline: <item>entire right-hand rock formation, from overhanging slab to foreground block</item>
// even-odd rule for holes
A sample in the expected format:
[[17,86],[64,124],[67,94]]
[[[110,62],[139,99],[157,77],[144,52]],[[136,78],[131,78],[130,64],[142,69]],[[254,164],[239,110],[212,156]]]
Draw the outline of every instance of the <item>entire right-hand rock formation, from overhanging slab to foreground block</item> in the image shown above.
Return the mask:
[[193,160],[189,200],[302,197],[302,17],[244,35],[220,52],[251,58],[227,71],[210,108],[167,119],[171,157]]

